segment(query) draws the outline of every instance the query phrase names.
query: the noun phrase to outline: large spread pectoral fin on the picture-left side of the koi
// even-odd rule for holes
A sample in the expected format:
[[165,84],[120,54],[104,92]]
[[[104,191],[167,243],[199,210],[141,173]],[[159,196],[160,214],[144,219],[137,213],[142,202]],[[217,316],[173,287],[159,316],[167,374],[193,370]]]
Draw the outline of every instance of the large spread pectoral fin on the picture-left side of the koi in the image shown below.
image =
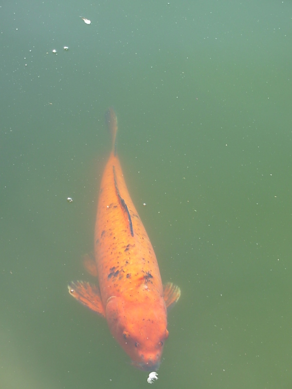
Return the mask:
[[105,317],[105,309],[101,301],[100,291],[96,285],[84,281],[72,281],[68,285],[69,293],[92,311]]

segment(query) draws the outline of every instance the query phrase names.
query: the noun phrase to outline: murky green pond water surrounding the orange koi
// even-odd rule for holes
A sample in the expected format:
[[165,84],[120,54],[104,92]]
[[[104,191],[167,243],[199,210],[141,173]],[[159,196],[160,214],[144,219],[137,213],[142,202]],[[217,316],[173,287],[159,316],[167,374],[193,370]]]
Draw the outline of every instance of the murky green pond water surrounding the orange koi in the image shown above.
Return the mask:
[[291,3],[10,1],[0,15],[1,388],[149,385],[67,291],[89,279],[108,106],[162,278],[182,290],[153,385],[290,388]]

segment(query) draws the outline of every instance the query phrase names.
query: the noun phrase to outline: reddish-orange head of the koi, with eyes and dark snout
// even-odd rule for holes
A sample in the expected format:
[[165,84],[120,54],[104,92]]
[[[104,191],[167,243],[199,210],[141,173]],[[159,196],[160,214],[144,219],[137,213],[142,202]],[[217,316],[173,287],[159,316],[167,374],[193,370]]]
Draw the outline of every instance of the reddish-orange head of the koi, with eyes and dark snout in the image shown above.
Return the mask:
[[132,364],[145,371],[157,370],[168,337],[164,299],[145,306],[110,297],[106,317],[112,335],[130,356]]

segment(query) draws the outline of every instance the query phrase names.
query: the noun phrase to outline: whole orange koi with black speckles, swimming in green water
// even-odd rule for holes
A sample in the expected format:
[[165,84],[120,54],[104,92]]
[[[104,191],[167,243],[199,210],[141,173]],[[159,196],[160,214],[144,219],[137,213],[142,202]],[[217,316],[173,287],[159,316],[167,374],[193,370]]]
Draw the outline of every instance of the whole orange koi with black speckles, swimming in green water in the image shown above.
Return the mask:
[[158,369],[168,337],[167,310],[180,298],[172,283],[162,284],[153,247],[128,193],[116,152],[117,118],[107,113],[112,149],[99,191],[94,261],[89,272],[98,284],[77,281],[70,294],[105,317],[112,336],[140,369]]

